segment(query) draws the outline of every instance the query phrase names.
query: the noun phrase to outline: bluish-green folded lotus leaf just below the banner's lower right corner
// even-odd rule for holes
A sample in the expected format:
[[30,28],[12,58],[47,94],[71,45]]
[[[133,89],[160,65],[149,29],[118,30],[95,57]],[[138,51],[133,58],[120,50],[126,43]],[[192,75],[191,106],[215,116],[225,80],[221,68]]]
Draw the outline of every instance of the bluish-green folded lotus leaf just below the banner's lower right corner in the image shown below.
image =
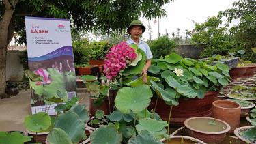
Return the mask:
[[90,119],[87,110],[85,109],[85,104],[75,104],[71,107],[70,111],[74,111],[81,121],[88,121]]

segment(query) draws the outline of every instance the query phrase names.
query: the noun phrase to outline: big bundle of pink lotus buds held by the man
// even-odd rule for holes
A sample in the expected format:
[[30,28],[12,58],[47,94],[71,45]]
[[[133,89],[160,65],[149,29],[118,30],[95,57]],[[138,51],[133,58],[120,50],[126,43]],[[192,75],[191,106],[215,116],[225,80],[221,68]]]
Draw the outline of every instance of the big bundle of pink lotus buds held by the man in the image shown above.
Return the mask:
[[137,58],[137,53],[134,48],[131,48],[126,42],[121,42],[111,48],[111,51],[106,55],[104,63],[104,73],[106,78],[112,80],[118,76],[121,70],[130,65]]

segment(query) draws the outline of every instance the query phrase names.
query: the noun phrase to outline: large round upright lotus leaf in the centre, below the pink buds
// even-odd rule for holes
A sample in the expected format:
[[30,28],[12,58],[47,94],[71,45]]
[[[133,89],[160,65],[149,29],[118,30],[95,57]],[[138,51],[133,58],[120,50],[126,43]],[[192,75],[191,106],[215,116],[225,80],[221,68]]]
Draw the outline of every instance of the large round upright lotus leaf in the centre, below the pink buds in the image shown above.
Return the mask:
[[115,98],[115,106],[122,113],[138,113],[147,108],[152,97],[150,87],[147,85],[139,85],[138,87],[123,87],[117,92]]

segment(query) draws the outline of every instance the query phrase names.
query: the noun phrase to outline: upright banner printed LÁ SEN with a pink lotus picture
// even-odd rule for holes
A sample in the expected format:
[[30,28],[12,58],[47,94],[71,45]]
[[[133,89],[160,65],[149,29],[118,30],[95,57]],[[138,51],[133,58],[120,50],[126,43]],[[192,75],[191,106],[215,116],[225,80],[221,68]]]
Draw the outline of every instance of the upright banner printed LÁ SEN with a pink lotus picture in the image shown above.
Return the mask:
[[26,16],[25,25],[29,70],[42,76],[31,83],[31,111],[55,115],[57,102],[76,96],[70,21]]

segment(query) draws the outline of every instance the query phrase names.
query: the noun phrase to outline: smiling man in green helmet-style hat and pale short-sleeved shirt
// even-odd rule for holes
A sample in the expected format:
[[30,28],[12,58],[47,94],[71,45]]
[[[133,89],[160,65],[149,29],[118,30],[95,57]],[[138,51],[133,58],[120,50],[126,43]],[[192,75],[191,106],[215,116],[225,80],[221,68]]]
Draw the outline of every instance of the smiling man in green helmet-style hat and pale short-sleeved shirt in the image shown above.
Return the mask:
[[127,42],[127,44],[137,44],[137,46],[145,52],[147,55],[147,60],[145,63],[145,67],[142,69],[142,74],[147,74],[148,68],[150,68],[151,60],[153,55],[150,51],[150,46],[147,45],[147,43],[140,40],[140,37],[142,33],[144,33],[146,30],[146,27],[141,23],[140,20],[133,20],[132,23],[130,23],[129,27],[127,28],[127,33],[130,35],[130,39]]

